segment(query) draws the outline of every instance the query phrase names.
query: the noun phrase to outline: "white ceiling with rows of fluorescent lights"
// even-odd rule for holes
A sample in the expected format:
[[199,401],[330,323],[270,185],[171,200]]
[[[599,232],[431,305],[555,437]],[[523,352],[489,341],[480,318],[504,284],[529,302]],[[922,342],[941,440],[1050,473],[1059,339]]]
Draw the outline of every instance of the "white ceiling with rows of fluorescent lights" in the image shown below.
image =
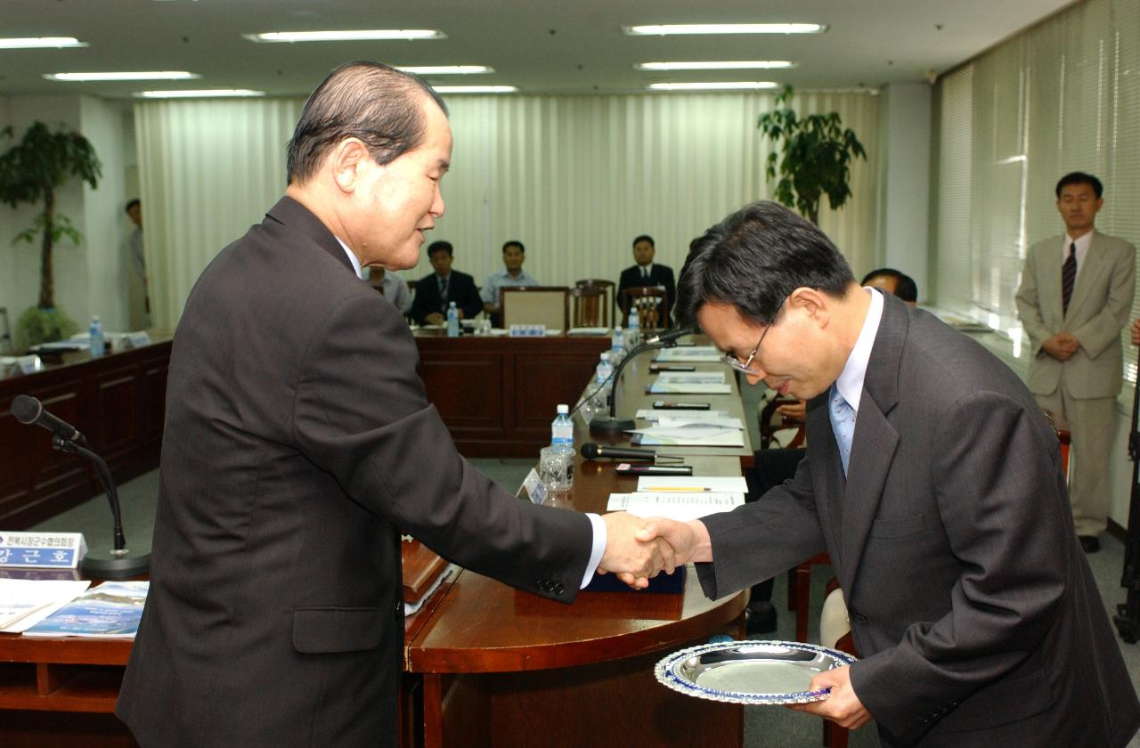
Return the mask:
[[[0,36],[76,36],[82,49],[0,50],[0,95],[127,97],[145,88],[307,95],[337,64],[490,65],[432,76],[523,93],[630,92],[658,81],[775,80],[876,88],[945,72],[1072,0],[0,0]],[[621,25],[825,23],[806,36],[626,36]],[[243,33],[438,29],[445,40],[253,43]],[[638,62],[791,59],[790,71],[645,73]],[[44,73],[186,70],[201,80],[60,83]]]

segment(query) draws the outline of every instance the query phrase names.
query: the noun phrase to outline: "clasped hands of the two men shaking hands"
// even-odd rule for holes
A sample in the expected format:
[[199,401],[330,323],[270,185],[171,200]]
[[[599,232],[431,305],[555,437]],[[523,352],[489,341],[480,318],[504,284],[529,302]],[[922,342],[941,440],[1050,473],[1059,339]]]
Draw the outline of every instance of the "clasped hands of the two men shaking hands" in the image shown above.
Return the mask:
[[711,561],[712,546],[700,520],[678,522],[660,517],[648,519],[627,512],[602,515],[605,552],[598,574],[616,574],[621,582],[644,590],[651,577],[673,574],[690,561]]

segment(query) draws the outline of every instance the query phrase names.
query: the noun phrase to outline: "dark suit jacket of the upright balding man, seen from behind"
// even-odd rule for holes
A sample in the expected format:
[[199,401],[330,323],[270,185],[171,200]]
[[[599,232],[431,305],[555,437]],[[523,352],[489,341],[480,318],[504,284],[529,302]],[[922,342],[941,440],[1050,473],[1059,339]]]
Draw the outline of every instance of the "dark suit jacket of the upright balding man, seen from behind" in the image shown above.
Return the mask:
[[393,746],[400,532],[570,601],[589,520],[456,452],[400,314],[283,198],[174,335],[150,593],[117,715],[142,746]]

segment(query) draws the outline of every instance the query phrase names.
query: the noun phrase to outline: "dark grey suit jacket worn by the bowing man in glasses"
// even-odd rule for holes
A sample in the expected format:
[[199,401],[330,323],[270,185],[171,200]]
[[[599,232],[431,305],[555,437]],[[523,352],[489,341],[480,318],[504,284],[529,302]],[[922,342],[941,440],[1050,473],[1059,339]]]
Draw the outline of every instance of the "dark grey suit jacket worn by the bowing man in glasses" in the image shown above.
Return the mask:
[[826,548],[863,657],[852,684],[885,746],[1126,745],[1140,705],[1026,387],[888,295],[846,480],[826,400],[808,404],[793,480],[705,519],[706,593]]

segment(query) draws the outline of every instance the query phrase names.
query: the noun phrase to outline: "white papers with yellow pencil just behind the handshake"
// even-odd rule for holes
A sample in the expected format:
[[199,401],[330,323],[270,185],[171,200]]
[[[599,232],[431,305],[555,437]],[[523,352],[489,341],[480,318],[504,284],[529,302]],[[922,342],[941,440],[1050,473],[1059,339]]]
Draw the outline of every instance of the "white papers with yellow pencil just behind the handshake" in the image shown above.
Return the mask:
[[606,509],[638,517],[665,517],[678,522],[730,512],[744,503],[743,478],[642,475],[635,494],[610,494]]

